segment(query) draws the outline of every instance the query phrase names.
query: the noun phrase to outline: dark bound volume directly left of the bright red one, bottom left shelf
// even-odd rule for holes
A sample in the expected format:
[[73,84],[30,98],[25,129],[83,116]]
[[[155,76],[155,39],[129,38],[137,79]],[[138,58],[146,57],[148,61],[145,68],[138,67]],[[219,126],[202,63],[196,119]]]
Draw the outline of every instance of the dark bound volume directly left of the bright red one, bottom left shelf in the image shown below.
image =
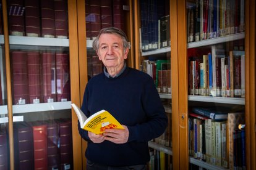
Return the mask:
[[34,149],[32,127],[25,122],[14,123],[15,169],[33,169]]

